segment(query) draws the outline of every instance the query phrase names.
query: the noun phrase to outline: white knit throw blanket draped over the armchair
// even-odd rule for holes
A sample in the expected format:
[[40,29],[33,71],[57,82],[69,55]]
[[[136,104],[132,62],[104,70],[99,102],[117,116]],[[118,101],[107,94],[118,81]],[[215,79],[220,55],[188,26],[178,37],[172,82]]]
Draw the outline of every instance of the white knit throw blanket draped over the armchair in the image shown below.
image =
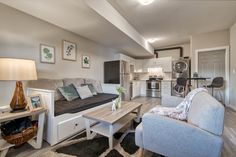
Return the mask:
[[199,92],[208,92],[205,88],[197,88],[192,90],[184,100],[176,107],[155,107],[150,110],[151,113],[168,116],[179,120],[187,120],[188,111],[192,100]]

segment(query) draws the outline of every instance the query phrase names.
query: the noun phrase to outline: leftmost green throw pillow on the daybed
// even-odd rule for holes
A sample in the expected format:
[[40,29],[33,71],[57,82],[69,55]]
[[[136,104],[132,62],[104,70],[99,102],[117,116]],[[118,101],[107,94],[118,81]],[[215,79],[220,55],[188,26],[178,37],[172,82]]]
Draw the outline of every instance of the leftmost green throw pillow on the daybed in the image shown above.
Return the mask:
[[58,89],[67,101],[72,101],[74,99],[79,98],[79,95],[73,84],[64,87],[59,87]]

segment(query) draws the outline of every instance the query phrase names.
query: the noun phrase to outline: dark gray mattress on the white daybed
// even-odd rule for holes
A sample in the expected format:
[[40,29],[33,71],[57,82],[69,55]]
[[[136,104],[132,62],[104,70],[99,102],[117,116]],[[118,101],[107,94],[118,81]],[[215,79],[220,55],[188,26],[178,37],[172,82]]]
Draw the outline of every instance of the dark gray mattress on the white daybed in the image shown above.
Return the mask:
[[111,102],[116,99],[118,95],[100,93],[86,99],[75,99],[73,101],[58,100],[55,101],[55,116],[59,116],[65,113],[77,113],[81,112],[105,103]]

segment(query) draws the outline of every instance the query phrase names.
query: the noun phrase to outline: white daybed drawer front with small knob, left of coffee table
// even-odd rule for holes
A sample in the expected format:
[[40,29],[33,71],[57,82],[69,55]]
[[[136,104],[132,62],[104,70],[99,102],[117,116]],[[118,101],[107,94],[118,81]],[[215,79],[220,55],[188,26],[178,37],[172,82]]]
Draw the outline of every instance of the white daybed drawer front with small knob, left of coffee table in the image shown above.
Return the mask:
[[65,120],[58,124],[57,135],[58,140],[63,140],[69,136],[78,133],[85,128],[85,123],[83,117],[75,117],[72,119]]

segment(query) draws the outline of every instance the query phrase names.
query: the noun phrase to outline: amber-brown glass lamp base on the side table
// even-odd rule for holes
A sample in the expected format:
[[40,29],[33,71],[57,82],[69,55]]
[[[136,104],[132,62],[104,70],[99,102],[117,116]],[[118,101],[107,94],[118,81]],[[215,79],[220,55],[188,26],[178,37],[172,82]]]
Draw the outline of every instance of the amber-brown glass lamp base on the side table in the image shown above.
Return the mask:
[[23,84],[21,81],[16,81],[16,88],[10,106],[12,112],[24,111],[27,106],[27,101],[25,99],[23,90]]

